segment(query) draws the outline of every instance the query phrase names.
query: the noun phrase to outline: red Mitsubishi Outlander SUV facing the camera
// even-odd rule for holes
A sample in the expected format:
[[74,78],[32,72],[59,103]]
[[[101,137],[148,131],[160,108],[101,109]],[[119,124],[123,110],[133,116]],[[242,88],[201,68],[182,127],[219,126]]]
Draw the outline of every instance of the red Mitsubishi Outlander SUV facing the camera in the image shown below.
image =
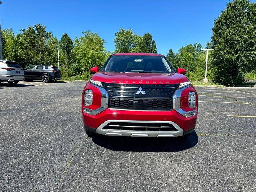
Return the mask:
[[[196,125],[197,93],[161,54],[115,53],[86,83],[82,116],[87,133],[130,137],[189,135]],[[90,132],[89,132],[90,131]]]

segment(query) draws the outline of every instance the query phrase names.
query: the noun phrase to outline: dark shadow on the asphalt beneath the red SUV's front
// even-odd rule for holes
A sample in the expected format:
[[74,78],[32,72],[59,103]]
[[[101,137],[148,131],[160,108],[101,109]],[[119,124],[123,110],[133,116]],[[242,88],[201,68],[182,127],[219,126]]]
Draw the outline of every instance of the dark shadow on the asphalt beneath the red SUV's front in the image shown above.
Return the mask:
[[92,141],[106,149],[113,151],[135,152],[177,152],[189,149],[198,142],[195,131],[189,137],[115,137],[96,135]]

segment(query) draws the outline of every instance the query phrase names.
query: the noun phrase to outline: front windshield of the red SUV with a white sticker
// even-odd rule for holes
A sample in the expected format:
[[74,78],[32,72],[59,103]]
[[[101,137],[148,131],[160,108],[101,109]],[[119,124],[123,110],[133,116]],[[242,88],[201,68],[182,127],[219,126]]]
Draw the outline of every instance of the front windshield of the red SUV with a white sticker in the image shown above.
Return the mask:
[[112,56],[103,72],[122,73],[174,73],[172,66],[162,56],[124,55]]

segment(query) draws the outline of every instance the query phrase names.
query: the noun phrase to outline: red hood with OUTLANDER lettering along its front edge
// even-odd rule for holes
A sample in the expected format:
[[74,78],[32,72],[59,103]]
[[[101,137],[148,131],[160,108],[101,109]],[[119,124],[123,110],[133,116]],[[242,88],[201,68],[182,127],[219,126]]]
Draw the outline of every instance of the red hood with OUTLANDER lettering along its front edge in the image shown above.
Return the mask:
[[91,79],[105,83],[123,84],[177,84],[189,81],[185,75],[178,73],[97,72]]

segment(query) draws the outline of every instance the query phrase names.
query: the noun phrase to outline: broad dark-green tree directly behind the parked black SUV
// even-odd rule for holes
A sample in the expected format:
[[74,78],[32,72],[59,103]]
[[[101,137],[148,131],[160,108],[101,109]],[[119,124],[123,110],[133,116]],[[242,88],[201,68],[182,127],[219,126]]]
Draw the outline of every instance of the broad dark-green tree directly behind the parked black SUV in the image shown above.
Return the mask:
[[22,29],[17,34],[14,46],[14,60],[21,66],[53,65],[58,61],[56,52],[58,40],[46,31],[46,26],[37,24]]

